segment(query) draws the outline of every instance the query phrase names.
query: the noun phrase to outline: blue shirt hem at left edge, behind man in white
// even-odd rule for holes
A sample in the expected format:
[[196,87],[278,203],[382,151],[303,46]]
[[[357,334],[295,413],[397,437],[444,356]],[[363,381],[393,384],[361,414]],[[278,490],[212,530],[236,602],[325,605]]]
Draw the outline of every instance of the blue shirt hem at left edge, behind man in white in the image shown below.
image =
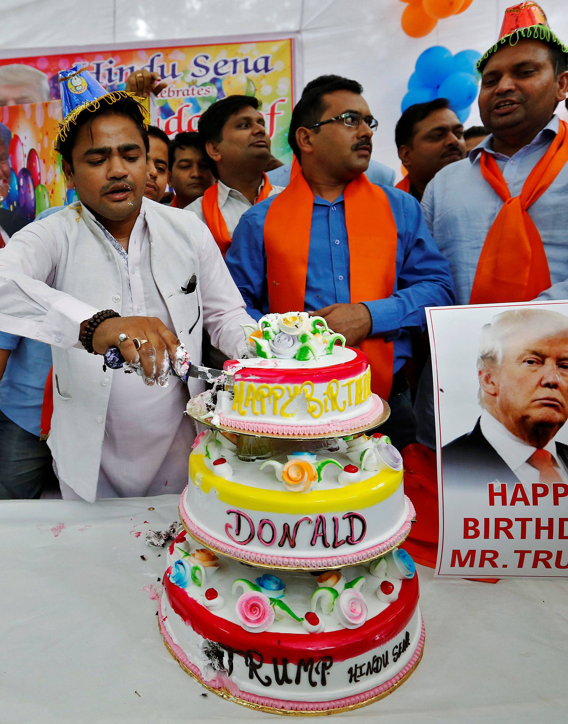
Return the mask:
[[0,410],[12,422],[39,437],[51,347],[28,337],[0,332],[0,350],[12,350],[0,382]]

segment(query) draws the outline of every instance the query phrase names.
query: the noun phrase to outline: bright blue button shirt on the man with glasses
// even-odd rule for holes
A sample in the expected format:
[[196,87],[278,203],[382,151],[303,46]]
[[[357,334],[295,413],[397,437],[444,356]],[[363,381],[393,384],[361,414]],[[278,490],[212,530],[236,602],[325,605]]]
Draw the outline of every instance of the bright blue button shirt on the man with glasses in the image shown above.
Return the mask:
[[[454,303],[448,263],[435,247],[416,199],[383,187],[398,231],[395,292],[389,298],[366,301],[372,334],[394,340],[397,372],[412,355],[410,334],[426,328],[424,308]],[[276,196],[248,209],[233,233],[225,261],[247,311],[255,319],[270,311],[264,220]],[[290,240],[293,244],[293,239]],[[316,196],[310,232],[304,309],[349,303],[349,244],[343,194],[333,202]]]

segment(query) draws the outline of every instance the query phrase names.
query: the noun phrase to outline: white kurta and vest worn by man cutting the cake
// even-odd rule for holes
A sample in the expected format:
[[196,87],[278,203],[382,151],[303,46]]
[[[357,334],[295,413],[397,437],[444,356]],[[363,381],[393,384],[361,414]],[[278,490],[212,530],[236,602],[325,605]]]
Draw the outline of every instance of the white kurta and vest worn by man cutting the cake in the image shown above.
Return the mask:
[[[185,295],[192,274],[197,289]],[[196,363],[202,323],[217,348],[235,356],[244,345],[240,325],[251,318],[204,224],[147,199],[128,257],[86,209],[33,222],[0,251],[0,330],[51,343],[49,446],[62,483],[85,500],[179,492],[193,442],[183,418],[189,391],[174,378],[166,388],[146,387],[135,374],[103,371],[78,334],[106,308],[159,317]],[[191,392],[200,389],[190,382]]]

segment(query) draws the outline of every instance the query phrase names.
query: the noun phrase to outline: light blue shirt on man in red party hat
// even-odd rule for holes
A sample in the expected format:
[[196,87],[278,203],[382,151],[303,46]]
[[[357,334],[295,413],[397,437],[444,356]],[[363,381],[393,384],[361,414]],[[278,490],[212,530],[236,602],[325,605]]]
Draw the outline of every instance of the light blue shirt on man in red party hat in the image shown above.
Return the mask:
[[[495,153],[493,135],[488,135],[469,153],[469,158],[441,169],[427,185],[422,209],[438,248],[449,261],[458,304],[469,304],[485,237],[503,206],[481,175],[482,149],[495,157],[509,192],[515,197],[558,130],[559,119],[554,116],[532,143],[511,158]],[[530,206],[528,214],[543,240],[552,281],[539,299],[568,299],[568,164]]]

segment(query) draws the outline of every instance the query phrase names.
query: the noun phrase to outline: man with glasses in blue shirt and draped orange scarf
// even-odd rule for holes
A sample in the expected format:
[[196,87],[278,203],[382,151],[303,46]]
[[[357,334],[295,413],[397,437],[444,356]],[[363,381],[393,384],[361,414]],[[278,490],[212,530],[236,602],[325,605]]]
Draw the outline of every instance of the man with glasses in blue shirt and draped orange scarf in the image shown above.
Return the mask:
[[298,173],[243,214],[226,261],[251,316],[312,311],[367,353],[393,411],[385,432],[404,447],[415,425],[402,371],[410,334],[454,290],[417,201],[364,175],[377,121],[361,93],[346,78],[312,82],[288,133]]

